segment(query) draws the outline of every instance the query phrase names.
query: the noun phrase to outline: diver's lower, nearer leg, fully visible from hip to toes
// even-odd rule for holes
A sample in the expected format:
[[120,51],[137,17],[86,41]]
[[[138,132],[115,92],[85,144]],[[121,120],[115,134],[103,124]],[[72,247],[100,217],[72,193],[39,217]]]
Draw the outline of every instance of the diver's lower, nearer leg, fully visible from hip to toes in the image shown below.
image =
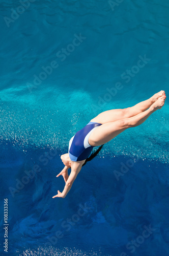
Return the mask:
[[148,110],[139,113],[136,116],[100,125],[89,136],[89,144],[91,146],[99,146],[105,144],[129,127],[134,127],[142,124],[154,111],[162,108],[165,98],[166,96],[158,98],[158,100],[154,102]]

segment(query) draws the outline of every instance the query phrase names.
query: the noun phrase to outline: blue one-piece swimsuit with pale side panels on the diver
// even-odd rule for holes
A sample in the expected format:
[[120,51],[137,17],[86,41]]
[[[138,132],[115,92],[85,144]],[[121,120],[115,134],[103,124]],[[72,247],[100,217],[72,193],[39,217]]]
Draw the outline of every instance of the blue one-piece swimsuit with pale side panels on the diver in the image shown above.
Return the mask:
[[69,157],[71,161],[82,161],[89,157],[93,146],[89,144],[90,134],[102,123],[89,122],[69,141]]

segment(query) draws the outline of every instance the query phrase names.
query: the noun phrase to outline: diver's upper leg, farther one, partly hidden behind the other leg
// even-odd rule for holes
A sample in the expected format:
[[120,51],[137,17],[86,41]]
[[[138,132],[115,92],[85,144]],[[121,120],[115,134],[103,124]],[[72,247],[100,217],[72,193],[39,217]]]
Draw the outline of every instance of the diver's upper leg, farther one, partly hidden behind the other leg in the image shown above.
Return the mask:
[[150,106],[162,95],[165,95],[164,91],[154,94],[150,99],[142,101],[131,108],[104,111],[93,118],[91,122],[108,123],[135,116],[150,108]]

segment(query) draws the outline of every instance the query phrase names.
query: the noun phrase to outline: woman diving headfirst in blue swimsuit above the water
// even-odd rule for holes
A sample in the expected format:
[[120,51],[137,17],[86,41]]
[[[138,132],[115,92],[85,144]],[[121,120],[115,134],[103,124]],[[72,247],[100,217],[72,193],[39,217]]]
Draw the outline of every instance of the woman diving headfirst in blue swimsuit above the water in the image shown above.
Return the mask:
[[[102,112],[93,118],[83,129],[78,131],[69,142],[69,153],[61,156],[65,167],[57,177],[63,176],[66,183],[65,188],[62,193],[58,190],[58,195],[52,198],[65,198],[81,167],[98,154],[103,144],[115,138],[126,129],[145,122],[153,112],[162,108],[165,99],[165,92],[160,91],[150,99],[130,108]],[[99,145],[101,147],[89,157],[93,147]],[[69,168],[71,168],[70,175],[68,175]]]

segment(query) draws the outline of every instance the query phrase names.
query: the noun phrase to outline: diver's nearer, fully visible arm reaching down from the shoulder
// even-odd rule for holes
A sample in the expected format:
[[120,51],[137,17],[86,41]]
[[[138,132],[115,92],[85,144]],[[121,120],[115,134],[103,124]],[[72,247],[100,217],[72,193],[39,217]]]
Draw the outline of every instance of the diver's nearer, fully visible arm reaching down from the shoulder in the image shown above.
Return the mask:
[[71,186],[74,182],[74,180],[76,179],[77,177],[77,174],[80,172],[81,170],[81,164],[78,164],[78,162],[74,162],[76,164],[72,164],[72,167],[71,167],[71,173],[69,175],[69,178],[68,180],[66,181],[66,184],[65,184],[65,187],[64,187],[64,190],[63,192],[61,193],[59,190],[58,190],[58,195],[55,195],[54,197],[52,198],[55,198],[55,197],[62,197],[62,198],[65,198],[66,195],[68,194],[69,190],[71,189]]

